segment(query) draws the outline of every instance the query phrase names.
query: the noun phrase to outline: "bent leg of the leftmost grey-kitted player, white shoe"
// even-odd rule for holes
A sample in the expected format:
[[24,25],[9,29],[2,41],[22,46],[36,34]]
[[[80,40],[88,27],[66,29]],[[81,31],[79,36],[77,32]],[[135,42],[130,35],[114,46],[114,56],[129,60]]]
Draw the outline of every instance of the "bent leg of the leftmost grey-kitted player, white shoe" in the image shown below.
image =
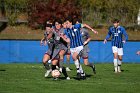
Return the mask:
[[51,72],[51,69],[50,69],[50,65],[48,63],[48,60],[50,59],[50,56],[48,54],[45,54],[44,57],[43,57],[43,65],[44,67],[46,68],[46,73],[45,73],[45,77],[48,77],[48,75],[50,74]]

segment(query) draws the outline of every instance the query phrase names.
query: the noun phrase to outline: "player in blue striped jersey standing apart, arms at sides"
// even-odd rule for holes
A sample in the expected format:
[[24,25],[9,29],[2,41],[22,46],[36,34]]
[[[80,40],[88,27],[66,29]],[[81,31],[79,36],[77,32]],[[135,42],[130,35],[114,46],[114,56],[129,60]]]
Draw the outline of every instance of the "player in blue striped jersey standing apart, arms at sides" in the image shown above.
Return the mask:
[[[112,35],[112,51],[114,54],[114,69],[115,73],[121,72],[122,56],[123,56],[123,43],[128,40],[128,35],[125,28],[119,25],[119,20],[114,19],[113,26],[109,28],[109,32],[104,39],[104,44]],[[123,39],[124,35],[124,39]]]

